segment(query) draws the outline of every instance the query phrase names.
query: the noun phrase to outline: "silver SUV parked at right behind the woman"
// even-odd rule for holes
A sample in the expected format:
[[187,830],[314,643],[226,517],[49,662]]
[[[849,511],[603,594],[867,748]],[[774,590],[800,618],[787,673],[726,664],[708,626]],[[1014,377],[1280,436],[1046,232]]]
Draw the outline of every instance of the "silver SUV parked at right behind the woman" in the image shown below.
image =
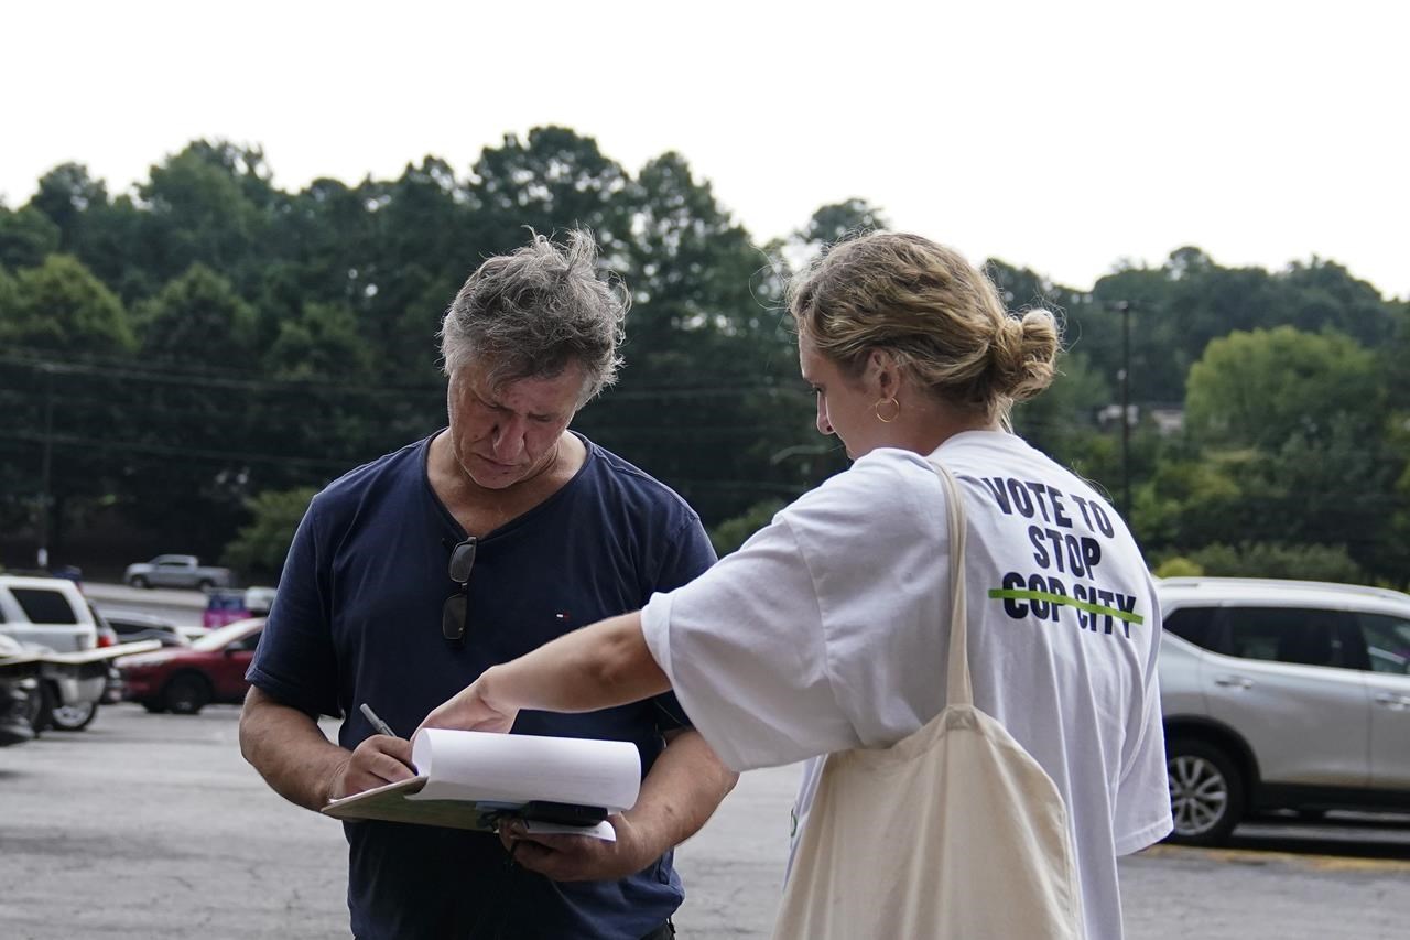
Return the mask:
[[1410,812],[1410,596],[1235,577],[1158,589],[1172,841],[1217,844],[1268,809]]

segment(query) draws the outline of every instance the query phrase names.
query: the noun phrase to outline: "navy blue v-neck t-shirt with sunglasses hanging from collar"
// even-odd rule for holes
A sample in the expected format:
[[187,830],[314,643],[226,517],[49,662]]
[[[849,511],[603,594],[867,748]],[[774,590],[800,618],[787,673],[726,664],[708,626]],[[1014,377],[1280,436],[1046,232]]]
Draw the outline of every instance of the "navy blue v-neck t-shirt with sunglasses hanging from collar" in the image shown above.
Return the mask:
[[[314,497],[285,563],[248,679],[309,714],[345,717],[351,749],[372,709],[409,735],[491,665],[577,627],[639,610],[715,562],[699,517],[661,483],[584,439],[587,463],[548,500],[479,539],[465,644],[441,635],[451,548],[464,529],[426,476],[431,439],[358,467]],[[523,711],[515,734],[632,741],[643,773],[671,694],[591,714]],[[615,882],[553,882],[506,865],[498,837],[382,821],[345,824],[348,908],[361,940],[634,940],[684,899],[671,852]]]

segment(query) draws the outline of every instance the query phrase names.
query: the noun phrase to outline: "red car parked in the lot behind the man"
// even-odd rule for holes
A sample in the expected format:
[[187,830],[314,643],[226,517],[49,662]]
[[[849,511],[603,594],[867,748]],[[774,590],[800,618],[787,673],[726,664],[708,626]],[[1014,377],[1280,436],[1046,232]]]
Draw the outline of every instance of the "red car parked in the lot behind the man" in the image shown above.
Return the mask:
[[213,701],[238,704],[250,683],[245,669],[259,645],[264,618],[213,629],[190,646],[172,646],[117,661],[123,697],[148,711],[196,714]]

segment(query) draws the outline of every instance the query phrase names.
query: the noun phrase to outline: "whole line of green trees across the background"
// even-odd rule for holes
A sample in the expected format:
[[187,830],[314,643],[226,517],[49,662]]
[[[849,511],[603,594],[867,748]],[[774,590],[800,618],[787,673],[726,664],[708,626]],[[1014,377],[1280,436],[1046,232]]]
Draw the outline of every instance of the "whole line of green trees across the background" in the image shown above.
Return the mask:
[[[812,426],[787,278],[885,224],[853,199],[759,244],[682,155],[632,174],[563,127],[508,134],[464,174],[426,157],[298,192],[227,141],[193,141],[124,193],[56,167],[0,205],[0,550],[21,565],[42,536],[87,558],[86,534],[117,521],[133,550],[276,573],[316,487],[441,426],[436,330],[465,277],[527,229],[568,227],[594,231],[633,303],[620,382],[575,426],[733,548],[845,466]],[[1017,429],[1129,493],[1156,563],[1406,584],[1404,301],[1332,261],[1225,268],[1194,247],[1090,289],[986,264],[1011,309],[1066,329],[1063,374]]]

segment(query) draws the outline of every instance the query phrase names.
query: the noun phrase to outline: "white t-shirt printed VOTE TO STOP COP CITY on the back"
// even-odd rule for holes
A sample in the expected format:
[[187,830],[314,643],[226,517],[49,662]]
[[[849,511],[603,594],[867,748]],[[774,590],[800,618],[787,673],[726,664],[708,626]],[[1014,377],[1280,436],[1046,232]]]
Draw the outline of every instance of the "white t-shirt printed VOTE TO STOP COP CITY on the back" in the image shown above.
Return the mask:
[[[1022,439],[966,432],[932,456],[969,517],[974,703],[1058,785],[1087,933],[1120,937],[1115,857],[1172,826],[1149,573],[1107,501]],[[948,552],[925,457],[874,450],[653,596],[646,642],[736,771],[887,747],[945,707]],[[815,782],[805,775],[799,831]]]

